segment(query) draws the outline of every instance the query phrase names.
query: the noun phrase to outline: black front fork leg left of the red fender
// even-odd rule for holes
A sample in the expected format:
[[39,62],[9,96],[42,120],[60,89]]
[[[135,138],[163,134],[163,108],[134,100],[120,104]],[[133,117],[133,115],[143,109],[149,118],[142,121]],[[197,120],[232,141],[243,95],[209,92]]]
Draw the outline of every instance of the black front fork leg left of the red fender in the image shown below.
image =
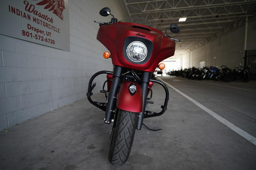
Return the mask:
[[121,74],[122,74],[122,67],[114,66],[113,81],[111,84],[111,88],[108,96],[108,104],[106,106],[106,112],[105,112],[104,123],[106,124],[110,124],[112,119],[112,111],[115,110],[116,95],[119,89],[119,83],[121,82]]

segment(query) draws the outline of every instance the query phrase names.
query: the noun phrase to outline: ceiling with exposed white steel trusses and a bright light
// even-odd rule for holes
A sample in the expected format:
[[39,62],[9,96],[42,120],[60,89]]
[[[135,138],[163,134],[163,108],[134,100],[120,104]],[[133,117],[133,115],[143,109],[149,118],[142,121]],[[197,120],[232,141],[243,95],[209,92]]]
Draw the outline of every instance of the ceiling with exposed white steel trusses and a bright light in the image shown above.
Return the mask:
[[[162,31],[170,24],[180,27],[181,42],[176,53],[183,53],[245,24],[256,16],[256,0],[123,0],[130,17],[144,18]],[[179,18],[186,17],[185,22]]]

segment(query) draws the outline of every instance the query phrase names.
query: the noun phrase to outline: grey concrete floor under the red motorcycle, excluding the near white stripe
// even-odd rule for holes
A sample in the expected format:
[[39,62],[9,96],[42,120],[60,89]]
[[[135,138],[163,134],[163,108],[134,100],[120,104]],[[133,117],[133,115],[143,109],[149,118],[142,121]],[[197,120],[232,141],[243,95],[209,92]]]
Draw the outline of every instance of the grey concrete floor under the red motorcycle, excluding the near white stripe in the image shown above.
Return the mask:
[[[256,137],[256,81],[160,78]],[[168,88],[166,113],[144,119],[150,128],[163,130],[136,130],[130,157],[121,167],[108,162],[111,125],[103,123],[104,112],[84,99],[1,131],[0,169],[256,169],[255,144]],[[160,108],[164,91],[154,84],[153,95],[149,110]]]

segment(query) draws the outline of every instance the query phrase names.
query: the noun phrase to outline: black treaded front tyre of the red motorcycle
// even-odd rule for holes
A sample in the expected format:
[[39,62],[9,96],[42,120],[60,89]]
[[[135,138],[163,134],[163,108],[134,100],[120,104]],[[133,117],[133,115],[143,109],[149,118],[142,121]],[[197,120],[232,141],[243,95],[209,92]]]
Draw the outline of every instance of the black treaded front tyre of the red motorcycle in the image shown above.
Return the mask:
[[123,165],[131,152],[138,115],[119,109],[113,129],[108,160],[114,165]]

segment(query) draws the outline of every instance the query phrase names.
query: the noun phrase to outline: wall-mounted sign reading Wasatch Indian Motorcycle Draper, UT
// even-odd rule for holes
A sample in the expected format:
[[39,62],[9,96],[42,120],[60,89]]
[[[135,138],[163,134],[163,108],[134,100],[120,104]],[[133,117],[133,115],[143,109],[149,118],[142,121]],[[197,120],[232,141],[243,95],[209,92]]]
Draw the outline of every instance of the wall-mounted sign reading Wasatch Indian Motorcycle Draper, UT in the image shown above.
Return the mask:
[[1,0],[0,34],[69,51],[68,0]]

